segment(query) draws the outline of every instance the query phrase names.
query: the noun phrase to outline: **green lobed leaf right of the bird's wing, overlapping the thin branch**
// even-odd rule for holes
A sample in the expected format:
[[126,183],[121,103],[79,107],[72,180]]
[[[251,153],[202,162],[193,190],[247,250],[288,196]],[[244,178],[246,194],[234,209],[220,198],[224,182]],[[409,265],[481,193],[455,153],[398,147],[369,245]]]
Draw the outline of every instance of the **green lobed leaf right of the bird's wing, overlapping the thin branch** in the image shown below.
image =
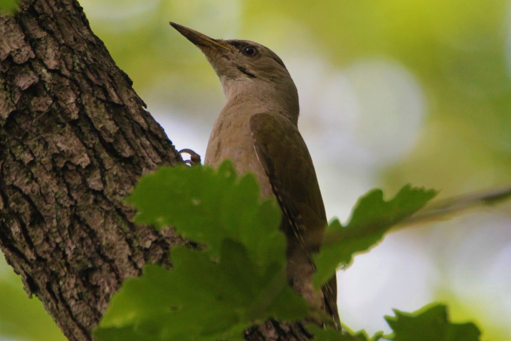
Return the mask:
[[393,225],[423,208],[435,195],[434,190],[406,185],[389,201],[383,200],[380,189],[361,197],[346,227],[338,220],[330,223],[321,251],[314,257],[314,285],[326,283],[339,265],[350,264],[355,254],[375,246]]

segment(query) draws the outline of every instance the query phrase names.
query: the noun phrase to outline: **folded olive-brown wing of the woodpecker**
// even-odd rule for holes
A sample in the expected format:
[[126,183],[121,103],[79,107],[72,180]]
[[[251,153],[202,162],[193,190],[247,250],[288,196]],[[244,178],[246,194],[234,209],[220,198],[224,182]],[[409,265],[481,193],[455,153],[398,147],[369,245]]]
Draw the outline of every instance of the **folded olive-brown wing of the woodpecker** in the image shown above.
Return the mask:
[[[327,226],[311,155],[296,125],[282,116],[271,112],[253,115],[250,130],[258,160],[284,215],[282,229],[288,240],[288,262],[298,267],[288,271],[288,275],[291,272],[292,278],[299,277],[299,268],[307,268],[301,265],[312,264],[310,254],[318,251]],[[338,322],[335,277],[322,291],[327,312]]]

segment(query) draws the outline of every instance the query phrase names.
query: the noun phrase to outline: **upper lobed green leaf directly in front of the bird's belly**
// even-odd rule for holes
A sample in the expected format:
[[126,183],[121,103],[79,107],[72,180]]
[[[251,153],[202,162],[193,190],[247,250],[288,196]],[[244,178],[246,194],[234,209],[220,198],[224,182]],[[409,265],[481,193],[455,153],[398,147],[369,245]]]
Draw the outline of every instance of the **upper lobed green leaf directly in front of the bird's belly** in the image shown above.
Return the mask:
[[137,223],[173,226],[184,238],[207,244],[212,257],[228,238],[245,245],[255,262],[285,263],[280,208],[274,198],[261,202],[253,175],[238,179],[229,161],[218,171],[162,167],[143,176],[127,200],[138,210]]

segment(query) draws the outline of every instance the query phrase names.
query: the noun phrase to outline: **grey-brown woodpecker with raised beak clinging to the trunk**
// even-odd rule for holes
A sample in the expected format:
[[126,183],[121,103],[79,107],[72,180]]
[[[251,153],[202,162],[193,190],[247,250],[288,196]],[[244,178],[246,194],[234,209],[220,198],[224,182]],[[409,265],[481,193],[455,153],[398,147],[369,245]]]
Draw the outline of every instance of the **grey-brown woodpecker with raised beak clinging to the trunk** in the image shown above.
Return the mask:
[[229,159],[238,174],[255,176],[263,198],[276,198],[287,240],[287,280],[339,326],[335,276],[321,291],[312,285],[312,255],[319,251],[328,222],[312,158],[298,131],[298,92],[286,65],[257,42],[213,39],[170,25],[202,51],[225,95],[204,164],[215,168]]

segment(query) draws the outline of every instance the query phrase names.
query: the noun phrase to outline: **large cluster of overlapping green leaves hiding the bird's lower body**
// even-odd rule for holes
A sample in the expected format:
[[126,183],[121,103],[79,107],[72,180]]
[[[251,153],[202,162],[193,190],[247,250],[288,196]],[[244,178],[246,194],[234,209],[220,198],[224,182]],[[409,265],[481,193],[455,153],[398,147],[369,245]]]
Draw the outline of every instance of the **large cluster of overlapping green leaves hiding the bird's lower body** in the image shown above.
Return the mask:
[[303,319],[306,301],[287,283],[286,240],[274,199],[260,200],[252,175],[230,162],[163,167],[128,198],[136,222],[173,226],[203,251],[175,247],[172,270],[147,265],[127,280],[95,330],[98,340],[243,339],[270,317]]

